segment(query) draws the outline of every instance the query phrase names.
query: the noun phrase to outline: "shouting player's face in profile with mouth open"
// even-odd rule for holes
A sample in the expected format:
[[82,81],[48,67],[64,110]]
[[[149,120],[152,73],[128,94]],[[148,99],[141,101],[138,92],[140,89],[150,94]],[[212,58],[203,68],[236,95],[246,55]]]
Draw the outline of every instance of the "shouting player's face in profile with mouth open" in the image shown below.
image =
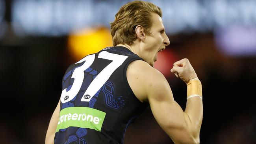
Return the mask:
[[143,59],[154,66],[158,52],[164,50],[165,46],[169,44],[170,41],[165,34],[162,18],[158,14],[152,13],[152,27],[149,34],[146,34]]

